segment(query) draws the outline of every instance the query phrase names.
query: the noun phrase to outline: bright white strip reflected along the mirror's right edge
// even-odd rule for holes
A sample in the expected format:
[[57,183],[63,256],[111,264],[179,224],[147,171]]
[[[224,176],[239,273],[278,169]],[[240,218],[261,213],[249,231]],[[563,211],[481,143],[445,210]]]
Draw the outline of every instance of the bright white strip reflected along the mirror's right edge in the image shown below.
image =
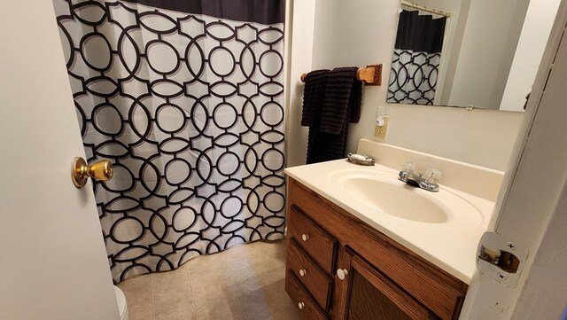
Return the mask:
[[523,110],[524,97],[532,91],[533,79],[538,72],[560,2],[561,0],[530,2],[502,97],[501,110]]

